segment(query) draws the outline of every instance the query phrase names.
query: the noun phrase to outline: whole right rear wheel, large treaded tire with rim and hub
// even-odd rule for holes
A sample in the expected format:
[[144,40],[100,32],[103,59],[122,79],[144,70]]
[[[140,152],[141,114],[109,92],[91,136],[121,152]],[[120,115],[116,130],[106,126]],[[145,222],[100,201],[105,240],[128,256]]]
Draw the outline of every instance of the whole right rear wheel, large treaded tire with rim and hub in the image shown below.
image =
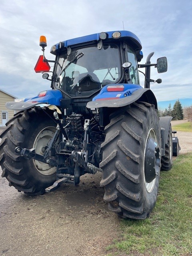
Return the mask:
[[145,219],[155,206],[160,178],[160,125],[148,103],[110,116],[100,168],[104,201],[119,216]]

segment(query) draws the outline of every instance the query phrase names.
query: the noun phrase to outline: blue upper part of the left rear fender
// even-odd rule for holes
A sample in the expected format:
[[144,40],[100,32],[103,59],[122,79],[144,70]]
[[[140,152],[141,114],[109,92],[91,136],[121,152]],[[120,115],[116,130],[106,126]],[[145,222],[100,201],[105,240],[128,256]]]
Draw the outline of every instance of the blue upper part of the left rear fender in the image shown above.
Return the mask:
[[60,90],[47,90],[46,95],[43,97],[33,97],[33,98],[26,98],[24,102],[40,102],[45,104],[51,104],[55,106],[60,106],[60,100],[63,98],[63,95]]

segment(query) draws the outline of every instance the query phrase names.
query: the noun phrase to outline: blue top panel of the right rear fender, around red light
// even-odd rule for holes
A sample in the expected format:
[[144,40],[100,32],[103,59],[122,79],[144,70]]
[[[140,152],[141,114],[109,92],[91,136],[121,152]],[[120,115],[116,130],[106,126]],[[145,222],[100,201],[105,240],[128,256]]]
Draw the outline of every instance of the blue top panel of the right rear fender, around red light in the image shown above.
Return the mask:
[[[107,86],[116,86],[116,85],[123,85],[124,86],[124,90],[121,92],[108,92],[107,91]],[[105,100],[105,99],[110,99],[110,98],[125,98],[127,96],[130,96],[134,91],[138,90],[138,89],[142,89],[142,86],[138,85],[138,84],[108,84],[106,86],[104,86],[99,94],[97,94],[92,101],[95,100]]]

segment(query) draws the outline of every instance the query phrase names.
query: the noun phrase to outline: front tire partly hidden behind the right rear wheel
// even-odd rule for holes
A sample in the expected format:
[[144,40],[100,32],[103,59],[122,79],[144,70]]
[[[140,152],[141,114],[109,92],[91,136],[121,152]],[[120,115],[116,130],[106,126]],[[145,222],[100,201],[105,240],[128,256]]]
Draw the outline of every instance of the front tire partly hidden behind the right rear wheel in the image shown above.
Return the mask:
[[172,152],[172,127],[169,126],[168,142],[165,144],[165,155],[161,158],[161,170],[170,170],[173,165]]

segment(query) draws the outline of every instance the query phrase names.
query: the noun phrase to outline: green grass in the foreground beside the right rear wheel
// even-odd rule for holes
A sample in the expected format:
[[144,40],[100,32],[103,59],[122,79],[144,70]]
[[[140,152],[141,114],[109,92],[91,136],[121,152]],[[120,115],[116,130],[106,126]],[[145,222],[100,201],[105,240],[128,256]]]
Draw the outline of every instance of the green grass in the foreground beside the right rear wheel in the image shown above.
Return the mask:
[[146,220],[121,220],[122,239],[108,256],[192,255],[192,153],[161,172],[156,206]]

